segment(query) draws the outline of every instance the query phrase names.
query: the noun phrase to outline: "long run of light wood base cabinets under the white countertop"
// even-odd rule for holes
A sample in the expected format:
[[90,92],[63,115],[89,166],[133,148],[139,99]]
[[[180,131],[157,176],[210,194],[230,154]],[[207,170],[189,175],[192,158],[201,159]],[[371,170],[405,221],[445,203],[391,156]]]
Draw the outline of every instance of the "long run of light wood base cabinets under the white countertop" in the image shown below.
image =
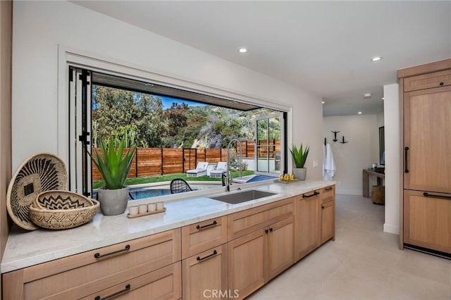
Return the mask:
[[3,299],[243,299],[333,238],[334,215],[332,186],[5,273]]

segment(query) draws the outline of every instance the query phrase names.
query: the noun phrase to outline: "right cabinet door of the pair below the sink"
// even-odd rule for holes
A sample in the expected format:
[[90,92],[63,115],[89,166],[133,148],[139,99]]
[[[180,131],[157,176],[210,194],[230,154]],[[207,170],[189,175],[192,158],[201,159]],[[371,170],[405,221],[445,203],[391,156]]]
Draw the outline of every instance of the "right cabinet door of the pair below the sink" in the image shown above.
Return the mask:
[[295,226],[293,218],[268,227],[268,278],[275,277],[295,263]]

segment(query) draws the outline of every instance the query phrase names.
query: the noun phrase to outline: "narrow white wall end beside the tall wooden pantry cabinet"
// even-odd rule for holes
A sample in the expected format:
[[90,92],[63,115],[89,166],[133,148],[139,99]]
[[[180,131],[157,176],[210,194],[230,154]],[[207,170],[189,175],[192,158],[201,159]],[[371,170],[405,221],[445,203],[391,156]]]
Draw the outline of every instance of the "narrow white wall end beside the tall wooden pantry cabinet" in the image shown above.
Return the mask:
[[385,223],[383,231],[400,233],[400,104],[399,86],[384,85]]

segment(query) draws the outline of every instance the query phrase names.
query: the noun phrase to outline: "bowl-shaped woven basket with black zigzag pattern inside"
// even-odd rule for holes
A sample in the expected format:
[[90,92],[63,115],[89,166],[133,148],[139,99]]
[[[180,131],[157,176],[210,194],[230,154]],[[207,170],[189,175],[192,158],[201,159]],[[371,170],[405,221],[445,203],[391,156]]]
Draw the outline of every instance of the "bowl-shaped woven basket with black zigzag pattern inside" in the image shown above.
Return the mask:
[[99,202],[66,191],[37,195],[30,206],[30,219],[39,227],[68,229],[89,222],[99,212]]

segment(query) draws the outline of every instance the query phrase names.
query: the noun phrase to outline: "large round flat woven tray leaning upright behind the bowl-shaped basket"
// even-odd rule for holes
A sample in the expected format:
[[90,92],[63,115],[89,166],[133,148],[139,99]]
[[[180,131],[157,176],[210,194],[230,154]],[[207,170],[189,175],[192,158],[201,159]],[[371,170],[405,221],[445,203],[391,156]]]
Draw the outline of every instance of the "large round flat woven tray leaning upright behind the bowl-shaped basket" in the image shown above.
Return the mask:
[[67,189],[66,165],[53,154],[27,158],[14,173],[6,194],[6,208],[14,223],[26,230],[38,227],[30,220],[30,205],[38,194]]

